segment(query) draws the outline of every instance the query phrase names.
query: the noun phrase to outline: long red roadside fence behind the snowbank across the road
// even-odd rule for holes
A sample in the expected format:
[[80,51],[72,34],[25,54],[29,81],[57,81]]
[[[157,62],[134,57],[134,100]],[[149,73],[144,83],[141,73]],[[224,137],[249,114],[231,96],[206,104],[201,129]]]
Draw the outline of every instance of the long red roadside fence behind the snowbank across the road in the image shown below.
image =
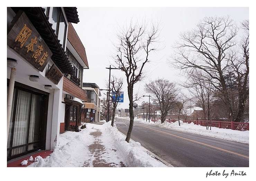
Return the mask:
[[[155,122],[158,119],[151,119],[151,121]],[[176,122],[178,120],[169,120],[166,119],[167,122]],[[196,125],[201,125],[205,127],[217,127],[217,128],[223,128],[223,129],[232,129],[232,130],[238,130],[238,131],[249,131],[249,123],[243,123],[243,122],[235,122],[235,121],[205,121],[205,120],[181,120],[183,122],[191,123],[193,122]]]

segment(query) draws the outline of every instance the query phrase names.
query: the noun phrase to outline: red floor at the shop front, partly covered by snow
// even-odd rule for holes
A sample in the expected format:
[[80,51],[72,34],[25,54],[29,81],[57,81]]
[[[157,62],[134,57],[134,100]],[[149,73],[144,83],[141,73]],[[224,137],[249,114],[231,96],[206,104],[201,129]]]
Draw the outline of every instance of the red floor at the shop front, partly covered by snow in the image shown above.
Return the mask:
[[[40,156],[42,158],[46,158],[47,156],[49,156],[53,151],[41,151],[39,153],[31,153],[30,156],[33,157],[33,159],[35,159],[37,156]],[[25,157],[25,158],[22,158],[22,159],[19,159],[19,160],[16,160],[16,161],[13,161],[11,163],[7,163],[7,167],[27,167],[28,165],[30,165],[31,163],[34,163],[34,161],[28,161],[27,165],[21,165],[21,162],[23,160],[28,160],[30,158],[30,156],[28,157]]]

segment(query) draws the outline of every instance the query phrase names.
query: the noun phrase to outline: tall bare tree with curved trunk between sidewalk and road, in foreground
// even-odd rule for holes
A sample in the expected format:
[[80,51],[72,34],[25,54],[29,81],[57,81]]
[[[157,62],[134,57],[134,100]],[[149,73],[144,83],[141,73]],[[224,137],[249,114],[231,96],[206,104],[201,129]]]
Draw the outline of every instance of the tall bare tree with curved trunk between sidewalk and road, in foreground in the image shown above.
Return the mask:
[[143,79],[145,65],[150,62],[149,55],[159,50],[160,24],[152,22],[142,23],[130,21],[127,26],[120,27],[116,36],[118,43],[115,44],[116,56],[114,57],[119,68],[125,72],[129,98],[130,124],[126,141],[130,141],[131,131],[134,123],[134,85]]

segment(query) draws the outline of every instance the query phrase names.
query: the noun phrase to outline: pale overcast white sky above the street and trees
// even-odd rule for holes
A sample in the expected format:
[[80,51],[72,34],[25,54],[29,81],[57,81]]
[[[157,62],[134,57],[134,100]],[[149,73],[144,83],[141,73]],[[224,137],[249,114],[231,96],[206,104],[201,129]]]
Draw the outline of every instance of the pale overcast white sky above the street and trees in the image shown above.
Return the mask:
[[[152,1],[148,1],[152,2]],[[162,2],[162,1],[161,1]],[[214,2],[215,4],[215,2]],[[185,5],[185,4],[183,4]],[[108,4],[107,6],[111,6]],[[201,4],[200,4],[201,6]],[[243,5],[245,6],[245,5]],[[234,19],[238,24],[249,19],[249,7],[77,7],[80,22],[73,23],[73,26],[80,37],[86,51],[89,69],[84,70],[83,82],[96,83],[100,89],[108,89],[106,81],[109,79],[109,69],[115,63],[110,58],[113,51],[111,40],[115,38],[114,32],[118,24],[123,26],[124,22],[131,18],[143,18],[160,20],[163,30],[161,32],[165,48],[152,56],[152,63],[148,64],[148,77],[136,83],[136,90],[140,95],[148,95],[144,91],[144,85],[150,79],[155,80],[165,78],[170,81],[179,82],[182,77],[178,76],[179,71],[172,70],[166,64],[166,59],[170,56],[171,44],[177,40],[180,32],[191,30],[195,24],[205,16],[227,16]],[[111,76],[121,76],[120,70],[111,70]],[[184,80],[184,79],[183,79]],[[118,108],[129,108],[126,79],[124,79],[124,103],[120,103]],[[102,91],[101,98],[106,91]],[[148,97],[142,98],[147,102]]]

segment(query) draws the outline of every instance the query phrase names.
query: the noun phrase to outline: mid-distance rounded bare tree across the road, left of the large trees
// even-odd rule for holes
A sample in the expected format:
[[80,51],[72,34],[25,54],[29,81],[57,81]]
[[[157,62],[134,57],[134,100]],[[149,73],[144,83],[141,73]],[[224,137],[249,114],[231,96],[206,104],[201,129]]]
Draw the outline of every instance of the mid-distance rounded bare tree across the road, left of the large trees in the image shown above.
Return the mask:
[[152,93],[153,100],[159,103],[159,110],[161,111],[161,123],[164,123],[168,111],[170,111],[173,106],[176,95],[177,88],[173,82],[162,79],[156,79],[155,81],[150,81],[145,85],[145,91]]

